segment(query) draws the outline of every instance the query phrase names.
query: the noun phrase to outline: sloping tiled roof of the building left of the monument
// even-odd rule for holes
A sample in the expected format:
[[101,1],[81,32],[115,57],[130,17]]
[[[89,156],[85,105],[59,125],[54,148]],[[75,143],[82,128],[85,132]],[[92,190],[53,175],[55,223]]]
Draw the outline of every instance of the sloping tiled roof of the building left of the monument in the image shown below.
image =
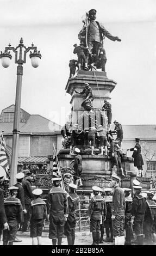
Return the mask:
[[[27,123],[20,123],[20,132],[54,132],[60,131],[61,126],[41,115],[30,115]],[[0,131],[13,132],[13,123],[0,123]]]

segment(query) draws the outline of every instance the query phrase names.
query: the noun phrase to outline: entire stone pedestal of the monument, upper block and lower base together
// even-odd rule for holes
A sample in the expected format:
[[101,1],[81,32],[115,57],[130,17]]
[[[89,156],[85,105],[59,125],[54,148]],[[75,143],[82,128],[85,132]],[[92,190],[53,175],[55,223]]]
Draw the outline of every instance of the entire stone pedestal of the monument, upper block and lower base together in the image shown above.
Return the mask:
[[[111,99],[110,93],[116,86],[116,82],[110,80],[107,77],[106,72],[78,70],[77,76],[69,78],[66,85],[66,92],[71,95],[70,103],[72,124],[78,123],[78,120],[82,118],[82,116],[80,117],[80,115],[82,115],[82,113],[84,112],[84,108],[81,105],[85,97],[74,92],[74,89],[76,89],[78,92],[82,92],[82,90],[84,89],[84,83],[89,83],[89,86],[92,88],[92,93],[94,97],[92,103],[93,108],[95,109],[102,108],[105,99]],[[89,113],[89,115],[91,119],[91,114]],[[97,114],[96,118],[92,119],[95,119],[97,123]],[[89,125],[89,127],[90,126],[91,125]],[[84,130],[83,127],[80,127],[80,125],[79,128],[82,128],[80,130]],[[82,158],[83,187],[81,187],[80,189],[90,192],[92,186],[109,187],[112,173],[110,157],[104,155],[84,154],[82,155]],[[74,159],[74,156],[68,155],[68,153],[60,153],[58,155],[58,159],[61,167],[71,167],[70,162]],[[133,180],[136,177],[136,169],[134,167],[132,157],[122,157],[122,167],[124,170],[124,174],[126,175],[125,177],[121,176],[120,170],[117,170],[117,175],[121,178],[121,187],[132,188]],[[145,186],[143,186],[143,188],[148,188],[148,184],[144,185]]]

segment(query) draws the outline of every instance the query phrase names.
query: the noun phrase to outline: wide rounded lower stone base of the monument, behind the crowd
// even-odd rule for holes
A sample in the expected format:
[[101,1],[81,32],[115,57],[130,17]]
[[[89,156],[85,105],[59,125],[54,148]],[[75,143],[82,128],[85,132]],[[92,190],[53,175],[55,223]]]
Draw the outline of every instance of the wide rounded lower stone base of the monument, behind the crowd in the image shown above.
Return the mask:
[[[58,155],[59,164],[62,167],[71,167],[70,162],[74,159],[71,155]],[[109,187],[111,178],[111,161],[107,156],[82,155],[83,159],[83,190],[91,190],[92,186]],[[121,176],[120,170],[117,175],[123,178],[122,187],[131,187],[131,177],[136,176],[132,157],[123,157],[122,167],[126,178]]]

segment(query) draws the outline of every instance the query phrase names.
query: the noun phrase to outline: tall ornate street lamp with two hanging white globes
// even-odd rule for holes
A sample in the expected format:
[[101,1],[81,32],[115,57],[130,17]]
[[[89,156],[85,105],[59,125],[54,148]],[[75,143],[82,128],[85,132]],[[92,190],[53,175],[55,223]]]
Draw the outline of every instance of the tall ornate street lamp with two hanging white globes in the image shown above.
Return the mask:
[[[24,49],[24,52],[22,52]],[[10,50],[15,52],[15,63],[17,63],[17,82],[16,82],[16,100],[15,100],[15,113],[14,113],[14,128],[13,128],[13,153],[11,156],[11,173],[10,173],[10,186],[13,186],[16,183],[16,173],[17,173],[17,162],[18,162],[18,141],[19,141],[19,126],[20,126],[20,108],[21,108],[21,89],[22,89],[22,75],[23,75],[23,64],[26,63],[26,54],[30,50],[30,59],[32,66],[37,68],[41,59],[40,51],[37,51],[37,47],[32,44],[30,47],[23,45],[23,39],[21,38],[20,44],[15,48],[5,47],[4,53],[1,52],[0,58],[2,60],[2,66],[8,68],[10,60],[12,58]],[[8,52],[9,51],[9,52]],[[18,57],[19,56],[19,57]],[[23,56],[23,58],[22,58]]]

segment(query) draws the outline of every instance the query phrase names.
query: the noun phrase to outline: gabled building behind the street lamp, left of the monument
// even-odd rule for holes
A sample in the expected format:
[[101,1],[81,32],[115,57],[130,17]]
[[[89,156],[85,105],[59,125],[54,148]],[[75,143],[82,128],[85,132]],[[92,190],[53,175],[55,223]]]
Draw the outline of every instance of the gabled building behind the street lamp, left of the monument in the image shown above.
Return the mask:
[[[0,115],[0,132],[4,131],[7,145],[6,153],[11,163],[13,122],[15,105],[2,110]],[[20,139],[18,146],[18,170],[33,164],[41,167],[49,163],[48,156],[53,155],[53,143],[57,151],[61,149],[61,126],[38,114],[29,114],[21,108]]]

